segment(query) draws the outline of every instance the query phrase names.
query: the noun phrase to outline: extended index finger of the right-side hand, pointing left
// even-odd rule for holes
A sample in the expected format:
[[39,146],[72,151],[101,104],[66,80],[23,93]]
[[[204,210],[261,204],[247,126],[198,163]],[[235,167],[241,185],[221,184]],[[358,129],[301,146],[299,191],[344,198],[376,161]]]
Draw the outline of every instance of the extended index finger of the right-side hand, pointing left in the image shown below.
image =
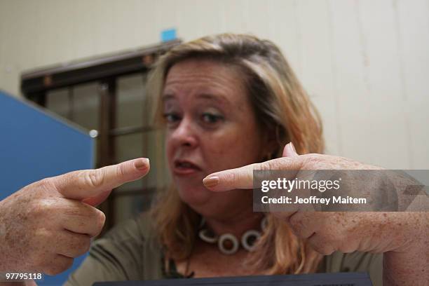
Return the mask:
[[253,189],[254,170],[299,170],[297,157],[282,157],[262,163],[215,172],[203,179],[203,184],[211,191],[229,191],[232,189]]

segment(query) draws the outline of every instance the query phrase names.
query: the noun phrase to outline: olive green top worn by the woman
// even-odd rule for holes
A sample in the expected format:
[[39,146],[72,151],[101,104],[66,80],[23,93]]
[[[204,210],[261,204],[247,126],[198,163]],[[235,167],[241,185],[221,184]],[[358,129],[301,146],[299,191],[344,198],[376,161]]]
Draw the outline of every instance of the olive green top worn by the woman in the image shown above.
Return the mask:
[[[67,286],[93,285],[97,281],[183,278],[172,264],[163,269],[163,252],[148,214],[120,224],[93,243],[88,257],[70,275]],[[334,252],[324,257],[318,272],[369,272],[374,286],[382,285],[381,254]]]

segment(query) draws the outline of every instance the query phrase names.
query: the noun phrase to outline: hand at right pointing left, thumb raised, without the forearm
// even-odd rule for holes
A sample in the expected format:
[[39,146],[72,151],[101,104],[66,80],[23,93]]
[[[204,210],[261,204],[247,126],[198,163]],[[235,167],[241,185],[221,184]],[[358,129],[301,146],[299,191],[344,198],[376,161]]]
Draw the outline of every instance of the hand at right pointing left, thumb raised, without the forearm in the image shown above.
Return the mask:
[[[322,154],[299,156],[287,144],[282,158],[216,172],[204,179],[212,191],[252,189],[253,170],[377,170],[348,158]],[[217,184],[216,184],[217,183]],[[365,184],[365,182],[362,182]],[[372,182],[374,184],[374,182]],[[376,185],[376,184],[375,184]],[[402,252],[428,238],[429,212],[275,212],[292,231],[321,254]],[[427,247],[427,246],[426,246]]]

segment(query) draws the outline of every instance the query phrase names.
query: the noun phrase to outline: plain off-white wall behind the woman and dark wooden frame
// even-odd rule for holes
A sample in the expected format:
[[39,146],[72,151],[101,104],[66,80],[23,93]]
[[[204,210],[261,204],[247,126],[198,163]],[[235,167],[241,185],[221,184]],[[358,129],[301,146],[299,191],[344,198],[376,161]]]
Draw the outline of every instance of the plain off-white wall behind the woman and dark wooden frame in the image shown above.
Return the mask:
[[0,88],[22,70],[219,32],[271,39],[322,114],[327,153],[429,168],[429,0],[0,0]]

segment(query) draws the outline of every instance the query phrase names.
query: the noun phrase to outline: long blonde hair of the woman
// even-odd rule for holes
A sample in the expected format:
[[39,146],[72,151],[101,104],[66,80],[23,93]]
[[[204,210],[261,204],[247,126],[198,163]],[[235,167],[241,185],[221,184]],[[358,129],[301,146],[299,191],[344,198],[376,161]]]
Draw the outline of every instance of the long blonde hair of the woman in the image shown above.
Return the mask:
[[[322,125],[297,76],[279,48],[267,40],[244,34],[219,34],[175,46],[156,62],[149,77],[149,94],[155,100],[156,123],[162,123],[163,85],[170,67],[188,59],[222,62],[238,68],[261,130],[275,135],[277,149],[292,142],[299,154],[322,153]],[[153,208],[154,226],[167,257],[191,255],[200,214],[183,203],[174,186],[160,193]],[[282,220],[267,214],[268,226],[251,252],[254,269],[267,274],[314,272],[321,256],[300,240]]]

